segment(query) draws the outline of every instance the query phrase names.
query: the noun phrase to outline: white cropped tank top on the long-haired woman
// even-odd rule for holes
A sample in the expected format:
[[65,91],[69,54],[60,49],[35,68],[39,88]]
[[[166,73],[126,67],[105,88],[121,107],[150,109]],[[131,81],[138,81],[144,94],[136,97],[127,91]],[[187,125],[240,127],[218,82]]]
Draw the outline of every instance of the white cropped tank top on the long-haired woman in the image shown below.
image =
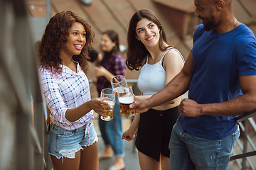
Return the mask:
[[[176,49],[170,48],[169,50]],[[169,52],[169,50],[167,50],[166,52]],[[178,50],[176,51],[178,52]],[[161,60],[159,62],[156,62],[156,64],[149,64],[149,56],[146,57],[146,63],[142,67],[138,78],[138,87],[139,90],[143,92],[143,95],[153,95],[161,91],[161,89],[164,89],[166,81],[166,71],[164,70],[162,61],[164,59],[164,56],[166,55],[166,52],[164,52],[163,57],[161,57]],[[180,52],[178,53],[181,55]],[[181,58],[183,60],[182,55]]]

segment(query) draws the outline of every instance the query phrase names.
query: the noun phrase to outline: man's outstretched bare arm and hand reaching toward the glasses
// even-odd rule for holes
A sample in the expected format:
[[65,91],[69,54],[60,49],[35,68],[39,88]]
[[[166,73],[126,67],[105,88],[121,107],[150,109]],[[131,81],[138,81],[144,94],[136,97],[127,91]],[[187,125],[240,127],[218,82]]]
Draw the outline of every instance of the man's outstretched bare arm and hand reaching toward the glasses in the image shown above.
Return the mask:
[[164,87],[164,89],[146,100],[140,100],[135,97],[134,103],[130,105],[130,108],[135,108],[137,113],[143,113],[148,111],[149,108],[159,106],[166,101],[171,101],[172,99],[186,93],[191,83],[192,70],[193,58],[192,52],[190,52],[181,72],[179,72],[176,77],[174,77],[174,79]]

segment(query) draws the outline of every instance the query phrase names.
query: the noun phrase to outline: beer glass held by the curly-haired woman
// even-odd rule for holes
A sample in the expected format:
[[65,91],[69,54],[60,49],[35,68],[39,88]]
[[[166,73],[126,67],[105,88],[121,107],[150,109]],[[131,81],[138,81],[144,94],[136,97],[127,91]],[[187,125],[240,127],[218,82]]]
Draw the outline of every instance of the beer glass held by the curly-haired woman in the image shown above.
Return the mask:
[[110,121],[113,119],[113,111],[114,111],[114,103],[115,103],[114,91],[112,89],[102,89],[100,93],[100,98],[102,98],[102,101],[108,103],[110,106],[113,106],[112,111],[102,113],[107,117],[103,117],[102,115],[100,116],[102,120]]

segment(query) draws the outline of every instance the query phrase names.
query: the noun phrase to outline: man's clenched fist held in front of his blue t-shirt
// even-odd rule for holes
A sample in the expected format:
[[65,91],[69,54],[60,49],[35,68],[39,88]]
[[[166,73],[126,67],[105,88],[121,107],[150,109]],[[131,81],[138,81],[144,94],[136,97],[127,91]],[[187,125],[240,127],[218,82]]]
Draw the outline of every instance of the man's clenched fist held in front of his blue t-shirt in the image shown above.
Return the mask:
[[201,105],[191,99],[185,98],[179,105],[179,111],[183,116],[197,117],[201,115]]

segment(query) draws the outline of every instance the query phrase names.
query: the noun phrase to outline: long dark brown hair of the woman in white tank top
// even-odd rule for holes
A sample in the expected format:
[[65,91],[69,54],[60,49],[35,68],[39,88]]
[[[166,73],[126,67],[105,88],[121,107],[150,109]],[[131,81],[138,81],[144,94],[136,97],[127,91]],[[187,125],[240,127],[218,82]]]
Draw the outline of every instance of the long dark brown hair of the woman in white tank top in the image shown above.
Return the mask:
[[[137,40],[136,36],[136,27],[137,23],[141,21],[143,18],[147,18],[149,21],[152,21],[153,23],[158,26],[160,30],[160,38],[159,38],[159,48],[160,50],[164,51],[168,47],[171,47],[169,45],[169,42],[166,38],[166,34],[164,33],[164,28],[161,25],[161,22],[158,18],[156,18],[156,14],[149,10],[149,9],[139,9],[134,15],[132,16],[131,20],[129,21],[129,27],[128,27],[128,33],[127,33],[127,60],[126,64],[128,69],[130,70],[139,70],[139,67],[142,66],[142,62],[144,58],[149,54],[149,51],[146,50],[145,45]],[[164,42],[167,44],[164,45]]]

